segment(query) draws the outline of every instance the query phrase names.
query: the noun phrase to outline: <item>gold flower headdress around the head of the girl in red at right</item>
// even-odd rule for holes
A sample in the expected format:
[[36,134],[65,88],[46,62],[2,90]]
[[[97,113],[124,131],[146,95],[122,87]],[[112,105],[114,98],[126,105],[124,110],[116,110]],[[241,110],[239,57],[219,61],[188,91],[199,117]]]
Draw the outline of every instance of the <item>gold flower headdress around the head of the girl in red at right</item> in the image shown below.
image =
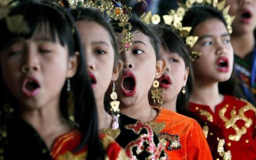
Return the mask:
[[[168,15],[163,15],[162,17],[164,20],[164,24],[170,26],[173,30],[178,31],[179,35],[185,39],[185,43],[190,48],[193,48],[194,44],[198,40],[198,36],[190,35],[189,32],[192,28],[182,26],[182,20],[188,9],[192,8],[195,4],[208,5],[221,11],[227,24],[228,33],[232,33],[231,24],[234,20],[234,16],[230,16],[228,14],[230,6],[225,7],[225,0],[220,3],[218,2],[218,0],[187,0],[185,4],[178,4],[180,7],[177,10],[171,9]],[[151,12],[148,12],[142,18],[142,20],[145,21],[147,24],[149,24],[150,22],[152,22],[153,24],[159,24],[159,22],[161,21],[161,17],[157,14],[152,15]],[[190,58],[192,61],[195,61],[196,59],[199,59],[201,55],[202,53],[200,52],[192,51]]]

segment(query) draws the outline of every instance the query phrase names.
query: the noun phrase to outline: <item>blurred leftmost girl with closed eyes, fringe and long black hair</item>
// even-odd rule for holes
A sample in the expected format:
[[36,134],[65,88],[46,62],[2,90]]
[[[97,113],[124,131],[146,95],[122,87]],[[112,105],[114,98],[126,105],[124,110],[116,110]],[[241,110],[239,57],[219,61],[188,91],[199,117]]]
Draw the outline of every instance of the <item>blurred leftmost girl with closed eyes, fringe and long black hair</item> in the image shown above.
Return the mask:
[[[3,10],[1,158],[104,159],[104,149],[117,154],[119,145],[98,135],[94,97],[70,14],[36,1]],[[72,97],[67,103],[67,90],[73,91],[74,103]]]

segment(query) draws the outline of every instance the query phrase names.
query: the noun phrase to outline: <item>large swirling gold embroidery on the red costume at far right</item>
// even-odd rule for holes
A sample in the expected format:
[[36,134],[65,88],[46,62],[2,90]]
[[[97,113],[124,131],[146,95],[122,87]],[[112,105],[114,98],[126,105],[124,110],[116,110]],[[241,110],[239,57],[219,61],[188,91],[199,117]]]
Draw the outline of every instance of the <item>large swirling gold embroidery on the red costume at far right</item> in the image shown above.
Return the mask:
[[[244,112],[246,112],[248,110],[253,110],[254,112],[256,112],[256,109],[250,103],[247,103],[245,106],[243,106],[242,108],[239,109],[238,115],[237,115],[237,111],[232,109],[230,111],[231,118],[227,119],[225,117],[227,107],[228,107],[228,105],[226,105],[226,107],[223,107],[220,109],[219,116],[225,122],[226,129],[232,127],[234,129],[234,131],[236,131],[236,134],[234,134],[234,135],[230,134],[228,136],[228,139],[231,141],[239,141],[241,139],[241,136],[246,133],[247,128],[249,128],[252,125],[252,120],[250,118],[247,118],[244,115]],[[243,127],[241,127],[241,129],[236,125],[236,122],[238,120],[243,120],[245,122],[245,125]]]

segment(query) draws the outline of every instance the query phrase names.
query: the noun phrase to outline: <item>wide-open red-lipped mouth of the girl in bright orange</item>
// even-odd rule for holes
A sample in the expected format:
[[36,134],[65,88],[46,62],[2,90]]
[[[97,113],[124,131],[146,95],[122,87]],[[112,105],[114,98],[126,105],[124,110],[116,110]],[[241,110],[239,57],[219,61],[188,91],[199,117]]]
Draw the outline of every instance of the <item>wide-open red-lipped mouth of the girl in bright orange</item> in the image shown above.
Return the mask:
[[123,73],[122,92],[125,96],[134,96],[136,93],[136,79],[132,72]]

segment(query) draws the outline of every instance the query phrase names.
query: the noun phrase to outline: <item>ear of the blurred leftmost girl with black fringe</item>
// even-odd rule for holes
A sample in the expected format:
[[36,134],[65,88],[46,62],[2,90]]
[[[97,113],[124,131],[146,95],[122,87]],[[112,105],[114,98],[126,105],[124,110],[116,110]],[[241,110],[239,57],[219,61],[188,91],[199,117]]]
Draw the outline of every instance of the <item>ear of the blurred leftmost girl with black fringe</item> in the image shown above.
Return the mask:
[[76,74],[79,58],[79,52],[76,52],[75,56],[69,57],[67,78],[71,78]]

